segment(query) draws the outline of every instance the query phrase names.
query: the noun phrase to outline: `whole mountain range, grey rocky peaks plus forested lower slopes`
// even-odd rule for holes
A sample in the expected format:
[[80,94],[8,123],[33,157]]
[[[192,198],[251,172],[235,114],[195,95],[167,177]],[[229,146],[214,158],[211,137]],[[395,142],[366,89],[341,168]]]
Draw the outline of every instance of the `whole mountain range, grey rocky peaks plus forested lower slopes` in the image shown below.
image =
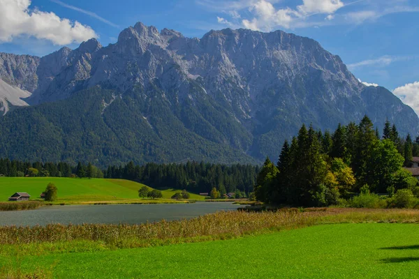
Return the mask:
[[47,56],[0,53],[0,157],[96,165],[258,163],[302,123],[335,130],[367,114],[417,133],[411,107],[365,86],[310,38],[210,31],[203,38],[138,22]]

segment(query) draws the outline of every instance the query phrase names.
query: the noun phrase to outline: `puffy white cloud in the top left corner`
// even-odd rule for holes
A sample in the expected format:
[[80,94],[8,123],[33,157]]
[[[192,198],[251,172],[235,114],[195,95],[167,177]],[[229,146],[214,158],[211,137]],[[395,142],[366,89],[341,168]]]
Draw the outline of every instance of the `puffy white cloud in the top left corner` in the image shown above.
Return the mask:
[[31,0],[0,0],[0,43],[27,35],[50,40],[55,45],[81,43],[97,38],[95,31],[80,22],[71,22],[54,13],[29,10]]

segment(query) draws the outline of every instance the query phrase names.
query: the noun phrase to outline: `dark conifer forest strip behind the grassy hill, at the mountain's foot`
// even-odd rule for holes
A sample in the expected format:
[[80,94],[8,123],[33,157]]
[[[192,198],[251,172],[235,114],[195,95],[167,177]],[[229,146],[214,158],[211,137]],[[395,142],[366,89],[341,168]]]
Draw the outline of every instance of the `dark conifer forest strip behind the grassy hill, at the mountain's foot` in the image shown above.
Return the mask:
[[145,183],[152,188],[175,188],[193,193],[210,193],[212,188],[220,197],[236,193],[247,197],[253,192],[260,167],[253,165],[220,165],[188,162],[186,164],[156,164],[111,166],[104,171],[91,163],[76,166],[68,163],[29,163],[0,159],[0,176],[53,176],[78,178],[128,179]]

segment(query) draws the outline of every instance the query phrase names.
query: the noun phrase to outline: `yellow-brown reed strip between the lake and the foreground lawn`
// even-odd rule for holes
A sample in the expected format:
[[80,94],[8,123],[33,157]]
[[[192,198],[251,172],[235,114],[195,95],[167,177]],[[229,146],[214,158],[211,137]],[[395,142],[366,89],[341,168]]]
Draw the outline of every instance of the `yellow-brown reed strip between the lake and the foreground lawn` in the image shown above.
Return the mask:
[[[297,209],[276,212],[218,212],[193,218],[141,225],[47,225],[0,227],[0,245],[103,241],[116,247],[150,246],[152,240],[170,243],[228,239],[327,223],[418,223],[419,211],[406,209]],[[195,240],[193,240],[195,239]],[[173,240],[173,241],[170,241]],[[176,241],[177,240],[177,241]],[[128,244],[129,242],[129,244]]]

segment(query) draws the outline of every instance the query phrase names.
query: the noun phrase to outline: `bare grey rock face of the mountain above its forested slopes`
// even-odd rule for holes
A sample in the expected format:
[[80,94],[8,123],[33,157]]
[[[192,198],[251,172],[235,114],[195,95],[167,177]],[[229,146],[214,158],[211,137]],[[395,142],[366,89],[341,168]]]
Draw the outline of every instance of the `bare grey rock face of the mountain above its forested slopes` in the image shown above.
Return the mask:
[[212,100],[249,140],[240,142],[233,132],[220,130],[210,114],[203,116],[205,121],[226,136],[226,144],[256,158],[277,156],[281,142],[295,135],[301,123],[335,129],[339,122],[371,114],[378,126],[388,118],[402,133],[419,130],[418,116],[390,91],[367,88],[339,56],[314,40],[283,31],[223,29],[198,39],[139,22],[108,47],[91,39],[76,50],[64,47],[41,59],[0,54],[0,78],[31,92],[30,105],[62,100],[96,85],[114,89],[122,98],[138,88],[145,100],[150,91],[158,92],[173,113],[184,103],[199,107]]

